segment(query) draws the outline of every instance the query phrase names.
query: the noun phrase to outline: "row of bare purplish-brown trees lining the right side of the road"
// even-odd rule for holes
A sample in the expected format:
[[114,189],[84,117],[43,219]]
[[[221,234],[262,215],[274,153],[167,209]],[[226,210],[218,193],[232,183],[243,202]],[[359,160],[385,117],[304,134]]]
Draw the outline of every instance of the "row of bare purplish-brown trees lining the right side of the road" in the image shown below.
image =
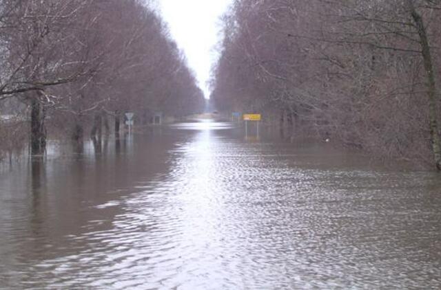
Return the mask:
[[236,0],[212,98],[441,170],[440,30],[439,0]]

